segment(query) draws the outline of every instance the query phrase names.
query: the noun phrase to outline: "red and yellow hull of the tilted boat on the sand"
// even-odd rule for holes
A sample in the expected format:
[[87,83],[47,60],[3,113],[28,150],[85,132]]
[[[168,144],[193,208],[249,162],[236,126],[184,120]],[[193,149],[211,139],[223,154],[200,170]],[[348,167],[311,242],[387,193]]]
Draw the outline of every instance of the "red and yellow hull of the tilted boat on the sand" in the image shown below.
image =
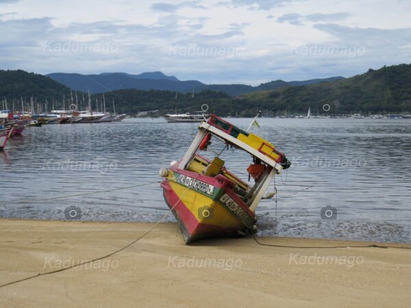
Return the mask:
[[[184,172],[184,170],[180,170]],[[186,175],[174,172],[171,178],[186,177]],[[179,183],[179,180],[173,181],[167,179],[162,182],[163,195],[166,204],[173,210],[173,214],[179,222],[180,228],[186,244],[197,240],[208,238],[226,238],[239,234],[244,234],[247,229],[251,229],[256,222],[254,214],[242,207],[239,209],[240,203],[237,200],[235,211],[242,211],[242,217],[238,219],[232,210],[227,208],[227,205],[222,200],[236,198],[230,189],[224,183],[218,183],[214,178],[201,177],[199,179],[199,187],[213,188],[212,195],[204,192],[199,192],[196,189],[187,187],[184,183]],[[188,181],[196,181],[190,177]],[[188,183],[188,182],[186,182]],[[201,189],[201,188],[200,188]],[[233,206],[231,204],[230,206]],[[206,210],[208,215],[204,212]]]

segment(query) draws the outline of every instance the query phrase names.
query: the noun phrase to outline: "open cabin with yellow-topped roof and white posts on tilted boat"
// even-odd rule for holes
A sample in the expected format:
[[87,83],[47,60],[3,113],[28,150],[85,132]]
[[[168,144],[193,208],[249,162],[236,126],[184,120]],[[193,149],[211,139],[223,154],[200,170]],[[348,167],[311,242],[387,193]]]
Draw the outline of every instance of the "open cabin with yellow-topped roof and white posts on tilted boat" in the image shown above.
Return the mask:
[[[214,141],[221,142],[221,151],[217,153],[211,150],[214,158],[207,159],[201,155],[201,151],[208,151],[209,145]],[[249,178],[253,177],[255,180],[254,185],[250,186],[225,168],[221,154],[230,149],[240,149],[251,155],[252,163],[247,172]],[[178,168],[229,183],[247,207],[255,211],[274,176],[289,166],[290,162],[285,155],[277,151],[273,144],[212,114],[207,122],[199,126],[199,132]]]

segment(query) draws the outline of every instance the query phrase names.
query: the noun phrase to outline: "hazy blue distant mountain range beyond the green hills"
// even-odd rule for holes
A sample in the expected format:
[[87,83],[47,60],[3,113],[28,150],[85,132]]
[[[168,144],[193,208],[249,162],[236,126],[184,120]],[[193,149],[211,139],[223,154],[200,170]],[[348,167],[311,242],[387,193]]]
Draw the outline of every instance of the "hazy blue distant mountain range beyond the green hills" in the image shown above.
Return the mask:
[[99,75],[81,75],[75,73],[51,73],[47,75],[51,79],[64,84],[77,91],[91,93],[108,92],[120,89],[136,90],[170,90],[177,92],[201,92],[212,90],[225,92],[232,96],[238,96],[247,92],[261,90],[273,90],[285,86],[317,84],[323,81],[335,81],[344,77],[331,77],[326,79],[311,79],[306,81],[270,81],[260,86],[247,86],[245,84],[203,84],[200,81],[180,81],[175,76],[167,76],[162,72],[141,73],[131,75],[127,73],[101,73]]

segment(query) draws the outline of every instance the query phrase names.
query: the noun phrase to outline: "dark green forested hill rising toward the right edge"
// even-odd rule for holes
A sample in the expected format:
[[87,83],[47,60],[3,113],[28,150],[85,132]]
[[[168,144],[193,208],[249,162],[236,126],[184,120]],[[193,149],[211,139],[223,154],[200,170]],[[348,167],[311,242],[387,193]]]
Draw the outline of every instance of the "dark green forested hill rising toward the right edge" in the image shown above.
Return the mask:
[[[245,110],[258,108],[273,112],[289,110],[304,113],[410,112],[411,64],[369,69],[362,75],[334,82],[290,86],[276,90],[243,94],[239,99]],[[325,107],[328,109],[328,106]],[[252,114],[252,113],[251,113]]]

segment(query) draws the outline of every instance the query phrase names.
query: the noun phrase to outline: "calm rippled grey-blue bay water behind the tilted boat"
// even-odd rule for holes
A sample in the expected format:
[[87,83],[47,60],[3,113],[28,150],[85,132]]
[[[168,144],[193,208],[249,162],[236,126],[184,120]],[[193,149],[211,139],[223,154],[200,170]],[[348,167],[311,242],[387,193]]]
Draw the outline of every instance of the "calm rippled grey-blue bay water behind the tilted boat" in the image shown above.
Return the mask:
[[[250,122],[231,120],[242,129]],[[261,235],[411,243],[411,120],[259,122],[258,133],[293,163],[271,185],[276,197],[258,207]],[[82,220],[155,222],[167,210],[159,183],[55,197],[160,181],[158,170],[184,155],[196,127],[161,118],[27,127],[0,153],[0,217],[62,220],[76,206]],[[224,157],[247,179],[249,155]],[[335,207],[336,219],[322,219],[323,207]]]

